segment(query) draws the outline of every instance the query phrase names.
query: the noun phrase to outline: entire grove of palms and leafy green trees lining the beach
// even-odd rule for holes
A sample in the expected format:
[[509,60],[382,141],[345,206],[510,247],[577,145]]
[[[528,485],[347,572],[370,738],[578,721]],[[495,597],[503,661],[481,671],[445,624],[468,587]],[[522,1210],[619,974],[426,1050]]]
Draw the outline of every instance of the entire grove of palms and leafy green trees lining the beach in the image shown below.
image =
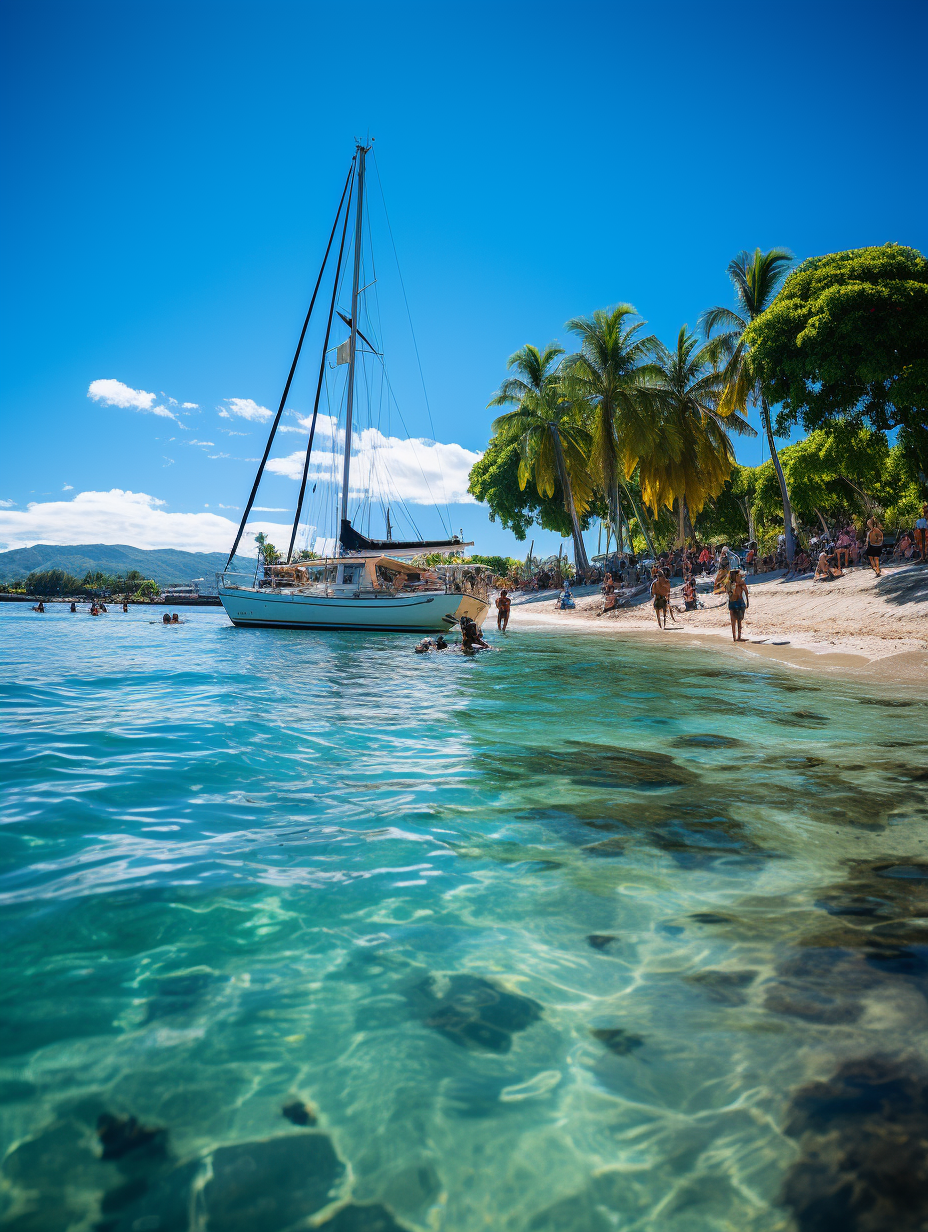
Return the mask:
[[[900,244],[813,257],[741,253],[732,307],[674,346],[631,304],[567,323],[578,347],[523,346],[490,399],[505,408],[470,490],[516,538],[573,538],[601,520],[656,552],[685,541],[786,538],[917,516],[928,496],[928,261]],[[774,408],[779,411],[774,415]],[[733,437],[768,460],[738,466]],[[807,436],[779,451],[781,436]]]

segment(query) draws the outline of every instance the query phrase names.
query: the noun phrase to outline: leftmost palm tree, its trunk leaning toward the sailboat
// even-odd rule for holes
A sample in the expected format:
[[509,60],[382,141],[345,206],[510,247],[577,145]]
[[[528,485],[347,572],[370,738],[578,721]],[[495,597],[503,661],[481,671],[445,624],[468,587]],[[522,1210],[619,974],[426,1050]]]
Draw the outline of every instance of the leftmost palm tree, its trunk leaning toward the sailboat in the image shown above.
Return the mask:
[[589,436],[561,379],[561,355],[563,347],[555,342],[543,350],[530,344],[520,347],[507,363],[519,376],[507,377],[488,405],[515,407],[493,421],[493,430],[502,441],[519,442],[519,487],[524,489],[532,473],[539,495],[553,496],[561,485],[573,533],[573,563],[583,573],[589,562],[579,519],[592,496]]

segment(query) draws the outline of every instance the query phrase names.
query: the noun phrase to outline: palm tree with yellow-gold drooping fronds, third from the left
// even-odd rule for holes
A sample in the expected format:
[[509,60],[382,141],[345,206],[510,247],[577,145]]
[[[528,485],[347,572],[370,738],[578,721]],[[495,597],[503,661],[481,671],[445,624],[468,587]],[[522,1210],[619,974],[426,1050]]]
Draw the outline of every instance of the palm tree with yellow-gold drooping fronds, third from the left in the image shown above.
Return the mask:
[[757,436],[736,411],[718,413],[725,383],[715,362],[714,342],[699,339],[684,325],[677,349],[654,347],[661,371],[656,389],[662,395],[662,437],[638,462],[641,492],[652,509],[677,506],[678,540],[685,537],[685,514],[698,514],[710,496],[717,496],[731,474],[735,452],[730,432]]

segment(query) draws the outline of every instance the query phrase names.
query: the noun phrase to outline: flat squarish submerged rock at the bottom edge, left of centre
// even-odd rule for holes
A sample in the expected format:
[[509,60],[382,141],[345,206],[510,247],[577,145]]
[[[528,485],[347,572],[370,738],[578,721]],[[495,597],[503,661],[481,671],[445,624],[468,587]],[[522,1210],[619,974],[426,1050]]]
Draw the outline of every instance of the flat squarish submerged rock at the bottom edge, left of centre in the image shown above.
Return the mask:
[[279,1232],[322,1210],[345,1165],[324,1133],[219,1147],[203,1188],[208,1232]]

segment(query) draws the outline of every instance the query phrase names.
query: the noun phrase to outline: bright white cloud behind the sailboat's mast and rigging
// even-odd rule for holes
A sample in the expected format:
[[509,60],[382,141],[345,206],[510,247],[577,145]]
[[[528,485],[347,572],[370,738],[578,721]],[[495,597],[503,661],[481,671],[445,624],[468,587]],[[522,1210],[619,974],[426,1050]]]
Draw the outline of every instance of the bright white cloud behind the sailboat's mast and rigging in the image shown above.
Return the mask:
[[[308,429],[309,420],[303,420],[302,426]],[[313,448],[309,483],[329,479],[333,468],[338,473],[340,456],[334,455],[333,448],[338,451],[339,445],[344,446],[344,430],[335,432],[332,416],[319,415],[315,441],[324,442],[327,448]],[[299,452],[271,458],[267,469],[274,474],[299,479],[304,457]],[[371,487],[413,505],[446,501],[452,505],[472,505],[476,501],[467,492],[467,476],[479,457],[479,453],[454,442],[444,445],[424,439],[402,440],[398,436],[385,436],[376,428],[365,428],[354,434],[351,441],[351,490],[360,493]]]

